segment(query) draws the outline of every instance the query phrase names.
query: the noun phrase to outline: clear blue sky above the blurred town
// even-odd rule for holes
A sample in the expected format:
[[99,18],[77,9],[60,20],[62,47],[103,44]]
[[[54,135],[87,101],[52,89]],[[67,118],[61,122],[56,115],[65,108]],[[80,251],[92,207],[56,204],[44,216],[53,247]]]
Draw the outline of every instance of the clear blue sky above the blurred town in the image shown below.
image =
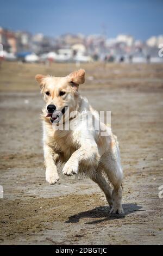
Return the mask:
[[146,40],[163,34],[162,0],[1,0],[0,26],[57,36],[131,34]]

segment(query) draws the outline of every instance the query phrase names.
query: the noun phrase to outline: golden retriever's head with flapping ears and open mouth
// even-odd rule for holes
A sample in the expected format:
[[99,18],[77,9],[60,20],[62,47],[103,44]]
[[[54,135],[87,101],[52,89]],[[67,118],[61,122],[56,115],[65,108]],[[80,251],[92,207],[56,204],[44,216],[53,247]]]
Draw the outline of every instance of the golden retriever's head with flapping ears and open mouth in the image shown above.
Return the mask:
[[85,81],[85,70],[74,71],[66,77],[36,75],[35,78],[46,101],[46,117],[50,117],[52,123],[59,121],[59,116],[64,115],[66,107],[70,112],[76,109],[78,87]]

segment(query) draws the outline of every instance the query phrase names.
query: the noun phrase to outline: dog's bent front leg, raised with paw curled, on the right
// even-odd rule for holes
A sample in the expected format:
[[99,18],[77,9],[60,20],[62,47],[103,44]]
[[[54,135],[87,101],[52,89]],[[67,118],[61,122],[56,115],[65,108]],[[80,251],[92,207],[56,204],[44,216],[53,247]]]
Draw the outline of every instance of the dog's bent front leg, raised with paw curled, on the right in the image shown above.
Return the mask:
[[74,151],[70,159],[66,162],[62,172],[65,175],[78,173],[80,161],[85,161],[87,166],[98,166],[99,153],[96,142],[86,141],[78,150]]

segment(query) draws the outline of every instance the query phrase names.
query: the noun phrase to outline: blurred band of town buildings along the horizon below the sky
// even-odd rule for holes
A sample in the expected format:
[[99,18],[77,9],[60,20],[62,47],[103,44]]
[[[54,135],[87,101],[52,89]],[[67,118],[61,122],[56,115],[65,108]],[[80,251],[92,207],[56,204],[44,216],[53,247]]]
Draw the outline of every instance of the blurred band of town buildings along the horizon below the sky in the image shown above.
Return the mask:
[[146,42],[125,34],[107,38],[100,34],[67,33],[52,38],[0,27],[0,44],[5,59],[24,62],[163,62],[158,56],[163,35],[152,36]]

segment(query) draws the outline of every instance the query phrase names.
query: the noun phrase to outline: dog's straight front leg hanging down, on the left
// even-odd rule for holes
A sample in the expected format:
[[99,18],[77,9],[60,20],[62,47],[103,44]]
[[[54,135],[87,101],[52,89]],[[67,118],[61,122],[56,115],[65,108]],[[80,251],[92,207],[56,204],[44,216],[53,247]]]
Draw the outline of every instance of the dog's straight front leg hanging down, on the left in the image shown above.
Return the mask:
[[55,164],[55,153],[52,152],[52,149],[47,145],[43,145],[44,151],[44,159],[45,159],[45,166],[46,166],[46,181],[49,184],[55,184],[59,180],[57,166]]

